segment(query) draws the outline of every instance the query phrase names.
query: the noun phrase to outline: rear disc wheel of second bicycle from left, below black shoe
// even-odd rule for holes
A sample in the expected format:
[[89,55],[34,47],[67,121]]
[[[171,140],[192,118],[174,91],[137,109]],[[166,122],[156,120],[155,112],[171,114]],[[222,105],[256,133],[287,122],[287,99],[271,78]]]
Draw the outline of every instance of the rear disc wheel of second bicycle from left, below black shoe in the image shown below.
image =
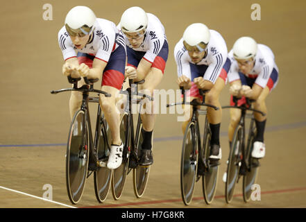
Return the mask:
[[[138,160],[142,153],[142,142],[144,141],[144,130],[142,128],[142,124],[140,124],[139,129],[137,130],[137,151],[138,151]],[[151,144],[153,146],[153,136]],[[148,175],[150,173],[150,166],[142,167],[139,166],[133,169],[133,187],[134,193],[137,198],[141,198],[144,195],[144,191],[146,190],[146,185],[148,184]]]

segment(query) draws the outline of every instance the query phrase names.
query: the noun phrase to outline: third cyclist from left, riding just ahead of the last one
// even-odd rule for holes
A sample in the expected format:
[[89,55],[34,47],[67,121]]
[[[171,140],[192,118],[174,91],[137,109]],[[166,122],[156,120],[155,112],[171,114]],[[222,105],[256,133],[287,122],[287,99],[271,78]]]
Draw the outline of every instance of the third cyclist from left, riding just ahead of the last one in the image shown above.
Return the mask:
[[[189,25],[174,49],[178,85],[190,89],[187,95],[190,96],[191,101],[193,99],[201,101],[198,89],[210,90],[205,94],[205,103],[219,108],[219,110],[207,108],[207,117],[212,130],[210,141],[212,162],[218,162],[222,156],[219,141],[222,110],[219,95],[226,85],[227,73],[230,69],[230,60],[227,56],[228,49],[223,37],[201,23]],[[182,124],[183,133],[192,117],[192,107],[185,105],[184,110],[187,118]],[[200,161],[199,164],[202,162]]]

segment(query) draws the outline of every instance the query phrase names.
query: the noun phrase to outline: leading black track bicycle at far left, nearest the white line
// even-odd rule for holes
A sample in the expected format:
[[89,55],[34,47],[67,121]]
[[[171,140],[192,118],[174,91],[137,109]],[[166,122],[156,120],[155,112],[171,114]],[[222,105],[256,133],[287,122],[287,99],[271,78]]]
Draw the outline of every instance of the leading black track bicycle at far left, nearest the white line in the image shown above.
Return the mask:
[[87,178],[94,172],[94,189],[96,198],[103,202],[108,196],[112,171],[105,164],[110,154],[110,130],[108,123],[101,114],[100,104],[96,117],[96,130],[92,137],[92,127],[90,122],[89,102],[99,103],[98,97],[90,97],[94,92],[111,96],[107,92],[94,89],[93,85],[99,79],[84,78],[87,85],[78,87],[80,78],[67,76],[72,88],[53,90],[51,94],[60,92],[82,92],[83,100],[80,109],[76,111],[69,128],[66,153],[66,185],[67,193],[71,203],[76,204],[80,201],[85,188]]

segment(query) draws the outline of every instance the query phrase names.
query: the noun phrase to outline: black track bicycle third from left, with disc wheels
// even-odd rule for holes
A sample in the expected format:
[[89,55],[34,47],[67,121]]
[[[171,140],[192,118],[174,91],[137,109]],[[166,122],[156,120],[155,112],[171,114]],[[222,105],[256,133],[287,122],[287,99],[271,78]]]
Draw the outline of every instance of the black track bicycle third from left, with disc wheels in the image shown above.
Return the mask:
[[[219,162],[210,161],[210,139],[212,132],[207,119],[207,110],[201,110],[201,106],[214,108],[214,105],[205,103],[205,93],[199,89],[200,95],[203,96],[203,101],[200,103],[196,99],[191,102],[185,101],[185,89],[180,87],[183,95],[182,103],[171,103],[172,105],[192,105],[192,118],[187,124],[185,134],[182,141],[182,154],[180,160],[180,191],[182,201],[185,205],[192,202],[195,183],[202,177],[202,189],[205,202],[212,203],[216,194],[216,185],[219,172]],[[201,134],[198,122],[198,115],[205,115],[203,144],[201,144]]]

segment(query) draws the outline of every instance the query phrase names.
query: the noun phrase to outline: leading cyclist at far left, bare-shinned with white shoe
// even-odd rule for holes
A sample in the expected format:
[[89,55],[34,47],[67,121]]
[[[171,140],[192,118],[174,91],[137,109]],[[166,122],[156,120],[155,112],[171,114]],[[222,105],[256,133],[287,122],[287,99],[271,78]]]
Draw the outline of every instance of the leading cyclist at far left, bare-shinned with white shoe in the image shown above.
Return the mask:
[[[112,145],[107,167],[116,169],[122,162],[123,144],[120,139],[119,110],[115,98],[124,82],[126,64],[126,46],[117,26],[106,19],[96,18],[94,12],[86,6],[72,8],[58,33],[58,43],[65,63],[62,74],[79,78],[78,87],[85,85],[83,77],[102,78],[101,90],[110,93],[111,97],[100,95],[101,109],[110,126]],[[76,51],[77,53],[76,53]],[[80,92],[71,92],[69,109],[71,118],[82,102]],[[96,166],[102,163],[97,161]]]

